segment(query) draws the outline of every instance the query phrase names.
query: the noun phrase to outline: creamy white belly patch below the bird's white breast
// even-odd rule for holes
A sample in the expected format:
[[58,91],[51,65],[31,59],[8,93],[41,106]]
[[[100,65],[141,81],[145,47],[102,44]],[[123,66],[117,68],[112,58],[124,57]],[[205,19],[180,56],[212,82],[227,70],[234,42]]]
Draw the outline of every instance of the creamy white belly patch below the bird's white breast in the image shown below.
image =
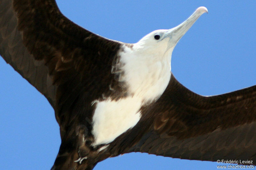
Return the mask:
[[108,144],[140,120],[141,101],[138,97],[120,100],[95,101],[96,109],[92,118],[94,145]]

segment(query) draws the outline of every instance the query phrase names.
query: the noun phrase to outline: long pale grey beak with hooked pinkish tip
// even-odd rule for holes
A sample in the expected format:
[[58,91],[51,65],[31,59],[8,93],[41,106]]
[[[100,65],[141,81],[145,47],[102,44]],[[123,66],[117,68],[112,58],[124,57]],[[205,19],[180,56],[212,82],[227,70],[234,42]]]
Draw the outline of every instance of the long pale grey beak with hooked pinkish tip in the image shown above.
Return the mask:
[[[203,14],[207,12],[207,8],[204,6],[201,6],[196,9],[196,11],[188,18],[186,21],[182,22],[180,25],[169,29],[166,33],[164,33],[164,36],[162,40],[166,37],[169,37],[169,47],[174,47],[180,38],[188,31],[188,29],[196,22],[196,20]],[[161,40],[160,40],[161,41]]]

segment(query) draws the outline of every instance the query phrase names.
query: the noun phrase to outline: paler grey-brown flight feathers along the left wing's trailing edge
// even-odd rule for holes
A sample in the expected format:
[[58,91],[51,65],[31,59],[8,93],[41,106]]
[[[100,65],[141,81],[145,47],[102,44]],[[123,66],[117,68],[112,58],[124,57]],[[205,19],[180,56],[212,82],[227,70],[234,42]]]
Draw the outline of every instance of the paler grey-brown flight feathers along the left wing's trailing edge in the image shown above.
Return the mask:
[[51,83],[44,62],[36,61],[23,45],[10,0],[0,1],[0,54],[23,78],[44,94],[54,107],[55,86]]

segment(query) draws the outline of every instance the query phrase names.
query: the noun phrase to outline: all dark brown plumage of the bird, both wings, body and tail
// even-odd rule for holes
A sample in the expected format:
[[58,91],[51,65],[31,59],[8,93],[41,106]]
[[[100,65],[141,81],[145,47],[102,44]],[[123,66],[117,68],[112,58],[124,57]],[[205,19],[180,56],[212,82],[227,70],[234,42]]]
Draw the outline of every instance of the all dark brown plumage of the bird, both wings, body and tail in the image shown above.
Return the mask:
[[[141,108],[138,124],[106,151],[96,152],[88,147],[93,140],[91,101],[103,93],[125,96],[115,78],[118,74],[111,73],[120,42],[75,25],[60,13],[54,0],[0,2],[0,54],[44,94],[60,125],[62,143],[53,169],[92,169],[101,160],[128,152],[256,162],[252,135],[256,86],[204,97],[186,89],[173,75],[163,95]],[[116,91],[109,90],[110,84]],[[75,162],[84,156],[88,158],[81,164]]]

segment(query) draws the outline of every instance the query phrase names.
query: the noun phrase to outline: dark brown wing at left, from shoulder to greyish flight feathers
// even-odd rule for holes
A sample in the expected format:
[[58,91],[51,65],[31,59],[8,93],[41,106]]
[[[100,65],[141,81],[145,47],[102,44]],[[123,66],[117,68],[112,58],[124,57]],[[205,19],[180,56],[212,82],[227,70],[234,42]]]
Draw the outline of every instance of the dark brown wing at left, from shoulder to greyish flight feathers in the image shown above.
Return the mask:
[[0,0],[0,55],[44,94],[59,124],[79,94],[109,89],[119,46],[68,20],[55,0]]

